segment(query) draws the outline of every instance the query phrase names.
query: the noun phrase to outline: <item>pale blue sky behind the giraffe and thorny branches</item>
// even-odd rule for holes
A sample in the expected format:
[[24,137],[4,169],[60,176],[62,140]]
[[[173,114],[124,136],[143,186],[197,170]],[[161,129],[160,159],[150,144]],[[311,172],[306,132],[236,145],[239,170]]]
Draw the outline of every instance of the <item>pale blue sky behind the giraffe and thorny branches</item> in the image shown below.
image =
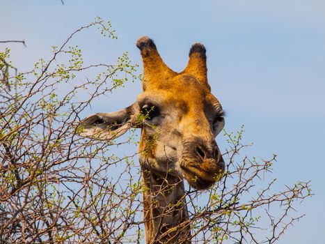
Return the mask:
[[[167,65],[181,71],[191,45],[203,43],[212,92],[227,112],[225,128],[245,125],[246,142],[254,142],[251,155],[278,154],[279,184],[312,181],[315,196],[296,208],[306,217],[278,243],[324,242],[325,1],[65,0],[63,6],[58,0],[1,0],[0,6],[0,40],[26,40],[27,47],[8,45],[21,71],[96,16],[111,20],[118,40],[95,31],[77,38],[88,63],[113,63],[127,51],[141,64],[135,42],[145,35]],[[140,92],[139,82],[130,83],[92,112],[126,107]],[[222,137],[217,141],[225,148]]]

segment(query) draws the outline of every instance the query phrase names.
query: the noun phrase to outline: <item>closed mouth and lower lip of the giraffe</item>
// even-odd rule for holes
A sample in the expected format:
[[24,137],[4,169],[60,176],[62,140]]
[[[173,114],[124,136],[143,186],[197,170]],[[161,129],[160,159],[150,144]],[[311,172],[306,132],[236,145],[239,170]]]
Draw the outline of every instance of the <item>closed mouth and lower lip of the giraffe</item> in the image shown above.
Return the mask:
[[198,190],[205,190],[209,187],[211,187],[215,182],[216,179],[205,179],[202,176],[200,176],[199,174],[196,173],[197,169],[195,171],[189,169],[188,167],[184,167],[184,166],[180,166],[182,169],[182,173],[184,175],[184,178],[187,179],[187,181],[189,182],[189,185],[191,185],[191,187],[196,188]]

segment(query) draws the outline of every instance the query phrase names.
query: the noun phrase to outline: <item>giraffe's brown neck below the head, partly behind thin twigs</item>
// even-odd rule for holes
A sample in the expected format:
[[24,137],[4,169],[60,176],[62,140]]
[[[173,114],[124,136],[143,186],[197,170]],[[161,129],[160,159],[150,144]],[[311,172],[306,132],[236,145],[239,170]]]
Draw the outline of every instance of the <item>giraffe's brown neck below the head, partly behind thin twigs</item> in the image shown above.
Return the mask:
[[191,243],[184,183],[143,169],[146,243]]

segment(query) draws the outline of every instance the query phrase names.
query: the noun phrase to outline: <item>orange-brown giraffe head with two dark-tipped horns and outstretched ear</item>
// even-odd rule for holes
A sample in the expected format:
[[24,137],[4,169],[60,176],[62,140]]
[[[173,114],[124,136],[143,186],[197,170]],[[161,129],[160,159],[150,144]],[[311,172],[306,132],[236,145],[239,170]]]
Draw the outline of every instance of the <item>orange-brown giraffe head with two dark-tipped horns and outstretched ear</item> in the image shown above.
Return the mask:
[[143,93],[118,112],[88,116],[80,122],[80,135],[109,140],[131,127],[141,128],[139,159],[144,170],[209,188],[225,167],[215,141],[225,121],[207,83],[205,47],[192,45],[187,68],[175,73],[150,38],[139,38],[136,46],[143,57]]

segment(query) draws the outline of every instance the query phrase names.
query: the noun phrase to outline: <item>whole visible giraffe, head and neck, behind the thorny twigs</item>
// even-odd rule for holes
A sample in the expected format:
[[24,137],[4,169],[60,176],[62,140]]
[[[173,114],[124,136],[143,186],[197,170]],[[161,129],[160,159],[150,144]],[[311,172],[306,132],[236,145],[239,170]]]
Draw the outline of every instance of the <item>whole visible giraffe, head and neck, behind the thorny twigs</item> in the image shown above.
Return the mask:
[[146,243],[191,243],[183,179],[203,190],[223,175],[215,141],[225,124],[223,109],[207,82],[204,45],[192,45],[181,73],[166,66],[152,39],[143,36],[136,46],[143,59],[143,93],[118,112],[86,117],[79,135],[110,140],[131,127],[141,128]]

